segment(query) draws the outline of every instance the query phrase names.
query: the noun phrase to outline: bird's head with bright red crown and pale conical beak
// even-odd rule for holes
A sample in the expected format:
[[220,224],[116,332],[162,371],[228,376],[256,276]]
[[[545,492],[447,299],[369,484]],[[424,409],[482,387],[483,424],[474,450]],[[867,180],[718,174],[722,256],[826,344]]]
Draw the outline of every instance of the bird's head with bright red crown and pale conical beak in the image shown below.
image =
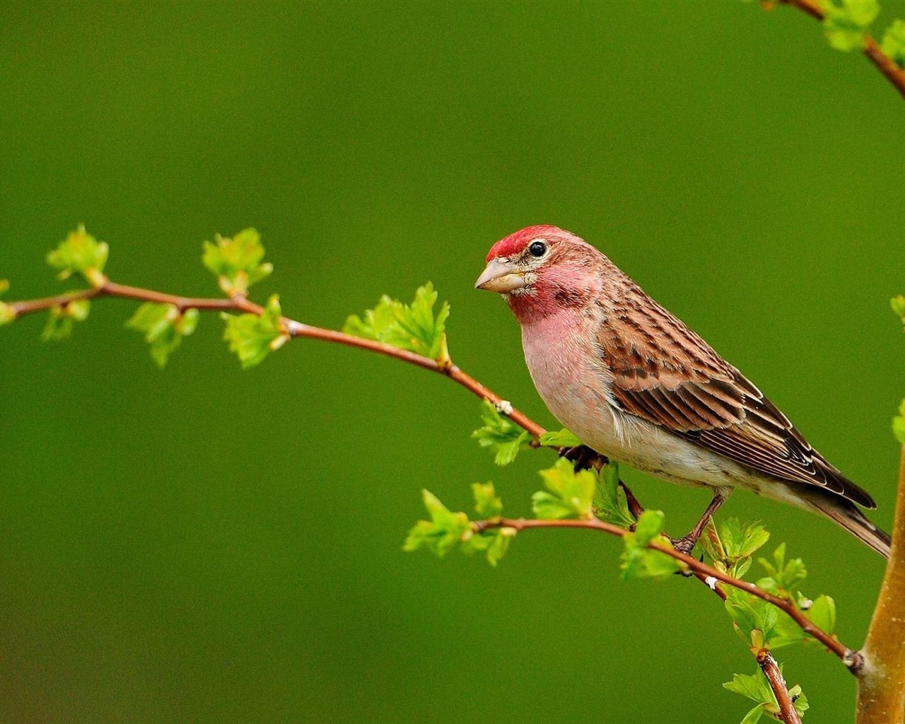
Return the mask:
[[605,256],[557,226],[528,226],[493,244],[477,289],[496,291],[520,320],[584,307]]

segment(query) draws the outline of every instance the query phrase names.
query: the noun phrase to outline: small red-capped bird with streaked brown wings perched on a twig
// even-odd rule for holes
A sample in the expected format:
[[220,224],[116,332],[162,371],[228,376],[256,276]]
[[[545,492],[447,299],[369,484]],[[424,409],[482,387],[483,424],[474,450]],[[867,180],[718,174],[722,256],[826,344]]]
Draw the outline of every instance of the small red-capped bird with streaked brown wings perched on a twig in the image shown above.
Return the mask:
[[491,247],[475,287],[509,303],[538,393],[583,443],[663,480],[713,491],[677,548],[691,552],[723,500],[744,488],[819,513],[889,557],[890,537],[857,507],[876,508],[867,491],[583,239],[548,225],[511,233]]

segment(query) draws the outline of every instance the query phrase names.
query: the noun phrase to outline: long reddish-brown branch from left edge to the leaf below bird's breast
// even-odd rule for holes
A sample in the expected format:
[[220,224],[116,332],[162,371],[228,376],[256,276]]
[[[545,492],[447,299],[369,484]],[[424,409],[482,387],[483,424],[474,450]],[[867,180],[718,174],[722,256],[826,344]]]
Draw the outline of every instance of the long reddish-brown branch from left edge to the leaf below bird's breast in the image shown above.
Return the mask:
[[[93,300],[103,297],[119,297],[129,300],[149,301],[157,304],[172,304],[180,312],[186,310],[217,310],[238,311],[245,314],[258,315],[263,312],[261,305],[255,304],[241,296],[234,296],[229,299],[179,297],[161,291],[152,291],[140,287],[130,287],[126,284],[118,284],[114,281],[110,281],[106,277],[101,277],[98,286],[93,289],[71,291],[66,294],[60,294],[55,297],[46,297],[40,300],[11,301],[7,302],[7,306],[18,318],[26,314],[32,314],[33,312],[49,310],[52,307],[65,307],[73,301]],[[325,342],[334,342],[336,344],[346,345],[347,347],[368,349],[371,352],[386,355],[386,357],[395,357],[410,365],[429,369],[432,372],[447,376],[463,386],[473,395],[489,400],[493,405],[498,405],[500,410],[505,408],[505,413],[510,420],[519,425],[523,430],[527,430],[535,443],[538,442],[540,435],[546,432],[541,425],[534,422],[527,414],[519,412],[519,410],[516,409],[510,410],[509,405],[500,405],[500,403],[504,403],[504,400],[500,395],[497,395],[488,387],[481,385],[478,380],[464,372],[460,367],[450,363],[438,362],[429,357],[422,357],[421,355],[416,355],[414,352],[395,348],[391,345],[376,342],[372,339],[353,337],[352,335],[344,334],[343,332],[338,332],[333,329],[313,327],[310,324],[303,324],[295,319],[284,317],[282,318],[282,323],[286,329],[286,333],[291,337],[321,339]]]

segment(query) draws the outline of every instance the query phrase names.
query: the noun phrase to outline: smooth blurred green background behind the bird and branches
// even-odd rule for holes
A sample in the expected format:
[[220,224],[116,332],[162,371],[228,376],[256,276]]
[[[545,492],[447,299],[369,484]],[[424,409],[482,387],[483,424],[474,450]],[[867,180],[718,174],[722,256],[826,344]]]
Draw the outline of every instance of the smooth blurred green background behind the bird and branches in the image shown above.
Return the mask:
[[[895,5],[890,3],[890,5]],[[901,4],[889,10],[902,14]],[[883,16],[883,19],[889,14]],[[73,286],[76,224],[117,281],[215,294],[200,243],[253,225],[296,319],[339,327],[432,280],[453,358],[543,424],[518,325],[472,290],[527,224],[586,237],[880,501],[905,391],[905,105],[789,8],[734,2],[6,3],[0,276]],[[883,26],[884,23],[881,23]],[[440,377],[299,340],[240,371],[205,317],[163,372],[110,300],[62,344],[0,330],[0,720],[740,719],[753,672],[701,586],[617,580],[616,541],[544,531],[498,570],[401,545],[430,487],[536,470],[469,440]],[[669,528],[708,496],[625,473]],[[862,641],[882,562],[739,493]],[[843,721],[852,678],[782,657]]]

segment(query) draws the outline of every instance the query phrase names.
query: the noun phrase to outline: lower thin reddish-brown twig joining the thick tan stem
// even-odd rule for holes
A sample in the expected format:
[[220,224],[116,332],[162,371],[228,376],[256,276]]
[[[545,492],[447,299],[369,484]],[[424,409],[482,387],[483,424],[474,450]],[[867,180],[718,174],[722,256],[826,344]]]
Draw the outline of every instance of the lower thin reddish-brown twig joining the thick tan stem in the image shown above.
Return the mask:
[[[604,520],[596,518],[580,520],[500,518],[491,520],[477,520],[472,523],[472,529],[475,533],[481,533],[484,530],[495,528],[509,528],[515,530],[516,532],[538,528],[578,528],[586,530],[598,530],[601,533],[606,533],[608,535],[615,536],[616,538],[624,538],[625,534],[629,532],[625,529],[619,528],[618,526],[614,526],[612,523],[607,523]],[[814,623],[807,616],[805,616],[805,614],[803,614],[795,607],[794,603],[787,600],[786,598],[780,598],[778,595],[768,593],[763,588],[755,586],[753,583],[744,581],[741,578],[737,578],[735,576],[731,576],[729,575],[729,573],[725,573],[719,570],[719,568],[708,566],[706,563],[698,560],[695,557],[687,556],[686,554],[681,553],[681,551],[676,550],[675,548],[663,546],[656,541],[649,543],[647,545],[647,548],[660,551],[661,553],[664,553],[667,556],[675,558],[676,560],[683,563],[686,567],[688,567],[689,570],[691,570],[692,574],[694,574],[695,577],[697,577],[703,583],[707,584],[707,586],[714,593],[719,595],[720,598],[725,598],[726,595],[719,591],[719,587],[717,586],[718,581],[720,583],[726,584],[727,586],[738,588],[739,591],[745,591],[750,595],[754,595],[757,598],[767,601],[767,603],[770,605],[776,606],[776,608],[778,608],[780,611],[783,611],[793,621],[795,621],[795,624],[798,624],[802,631],[810,636],[813,636],[820,643],[823,643],[824,646],[831,653],[834,653],[852,672],[858,673],[860,671],[862,666],[862,656],[860,653],[855,652],[845,646],[843,643],[840,643],[839,640],[834,637],[834,635],[826,633],[823,629],[815,626]],[[905,619],[903,619],[903,621],[905,621]]]

